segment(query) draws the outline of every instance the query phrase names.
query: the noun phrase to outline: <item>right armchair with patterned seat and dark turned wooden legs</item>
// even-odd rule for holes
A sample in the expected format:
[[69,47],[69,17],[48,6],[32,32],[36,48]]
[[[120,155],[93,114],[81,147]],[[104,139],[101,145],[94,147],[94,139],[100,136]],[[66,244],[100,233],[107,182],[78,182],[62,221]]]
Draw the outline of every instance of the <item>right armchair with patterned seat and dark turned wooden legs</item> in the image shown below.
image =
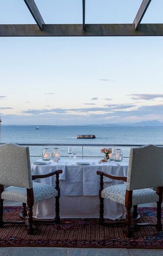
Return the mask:
[[[131,237],[132,227],[134,226],[132,220],[138,217],[137,205],[157,202],[157,223],[155,226],[158,231],[162,230],[163,147],[147,145],[131,148],[127,177],[108,175],[100,171],[97,171],[97,175],[100,175],[99,221],[101,224],[105,223],[103,218],[104,199],[123,204],[126,207],[125,234],[126,237]],[[103,176],[115,180],[123,180],[125,183],[104,188]],[[156,191],[152,187],[156,187]],[[132,206],[133,215],[131,218]]]

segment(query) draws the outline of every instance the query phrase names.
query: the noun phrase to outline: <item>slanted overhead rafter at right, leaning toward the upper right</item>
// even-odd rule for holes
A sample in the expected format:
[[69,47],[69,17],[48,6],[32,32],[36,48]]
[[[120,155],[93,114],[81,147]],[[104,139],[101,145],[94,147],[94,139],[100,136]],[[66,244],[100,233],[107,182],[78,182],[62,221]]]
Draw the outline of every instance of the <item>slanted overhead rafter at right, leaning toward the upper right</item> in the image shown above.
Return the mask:
[[151,0],[143,0],[138,12],[137,12],[137,15],[135,16],[134,20],[133,20],[133,24],[134,24],[134,28],[135,29],[138,29],[140,23],[141,23],[141,20],[145,14],[145,12],[147,11],[147,8],[150,4]]

